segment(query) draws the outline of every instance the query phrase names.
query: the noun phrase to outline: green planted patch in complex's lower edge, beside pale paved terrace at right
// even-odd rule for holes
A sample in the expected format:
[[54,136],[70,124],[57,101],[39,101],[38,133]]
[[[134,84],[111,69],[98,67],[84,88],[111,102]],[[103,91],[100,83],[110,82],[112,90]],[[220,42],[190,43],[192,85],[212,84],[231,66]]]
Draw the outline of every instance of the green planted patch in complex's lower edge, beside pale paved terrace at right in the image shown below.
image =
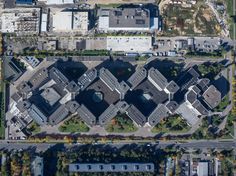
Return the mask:
[[185,133],[190,130],[187,122],[183,120],[180,116],[174,115],[165,118],[159,124],[157,124],[153,129],[153,133]]

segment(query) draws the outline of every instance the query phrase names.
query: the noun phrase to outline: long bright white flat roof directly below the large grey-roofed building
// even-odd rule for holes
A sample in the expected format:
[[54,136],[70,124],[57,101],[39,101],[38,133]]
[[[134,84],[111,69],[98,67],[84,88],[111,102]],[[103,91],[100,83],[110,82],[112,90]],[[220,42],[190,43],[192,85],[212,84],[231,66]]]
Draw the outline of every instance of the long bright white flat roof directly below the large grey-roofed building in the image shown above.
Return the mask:
[[152,37],[150,36],[111,36],[107,37],[107,50],[124,52],[150,52]]

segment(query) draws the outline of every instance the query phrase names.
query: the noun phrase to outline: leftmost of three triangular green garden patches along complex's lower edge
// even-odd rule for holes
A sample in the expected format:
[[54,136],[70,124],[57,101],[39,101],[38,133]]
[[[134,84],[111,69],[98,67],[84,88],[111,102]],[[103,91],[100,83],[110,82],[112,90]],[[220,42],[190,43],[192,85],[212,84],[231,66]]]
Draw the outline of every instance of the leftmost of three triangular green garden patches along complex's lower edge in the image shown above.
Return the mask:
[[78,116],[72,116],[59,127],[59,131],[67,133],[88,132],[89,127]]

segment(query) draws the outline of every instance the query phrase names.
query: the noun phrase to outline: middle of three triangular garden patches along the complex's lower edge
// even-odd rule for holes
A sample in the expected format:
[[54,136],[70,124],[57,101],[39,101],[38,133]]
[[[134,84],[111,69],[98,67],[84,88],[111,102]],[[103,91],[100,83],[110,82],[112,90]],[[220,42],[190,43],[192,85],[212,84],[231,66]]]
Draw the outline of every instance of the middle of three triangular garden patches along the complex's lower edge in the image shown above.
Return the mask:
[[117,115],[105,128],[110,133],[130,133],[138,129],[126,114]]

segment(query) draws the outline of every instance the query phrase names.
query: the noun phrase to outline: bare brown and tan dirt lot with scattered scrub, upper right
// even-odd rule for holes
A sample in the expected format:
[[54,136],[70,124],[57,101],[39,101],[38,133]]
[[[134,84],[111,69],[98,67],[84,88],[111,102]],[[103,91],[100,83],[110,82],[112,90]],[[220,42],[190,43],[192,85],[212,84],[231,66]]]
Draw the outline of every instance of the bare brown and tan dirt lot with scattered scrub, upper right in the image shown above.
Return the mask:
[[166,4],[163,7],[165,35],[219,35],[220,26],[211,9],[204,2],[189,7]]

